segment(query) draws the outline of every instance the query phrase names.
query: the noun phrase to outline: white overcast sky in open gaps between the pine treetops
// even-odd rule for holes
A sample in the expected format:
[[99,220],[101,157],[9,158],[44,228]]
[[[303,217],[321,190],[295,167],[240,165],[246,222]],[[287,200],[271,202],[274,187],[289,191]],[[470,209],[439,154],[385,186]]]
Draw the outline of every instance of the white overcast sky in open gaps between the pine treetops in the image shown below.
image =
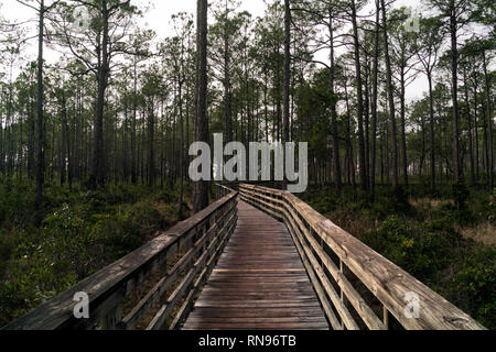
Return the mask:
[[[50,1],[45,1],[48,2]],[[263,0],[241,0],[240,10],[249,11],[254,18],[263,15],[266,4]],[[133,0],[133,3],[138,6],[150,6],[149,12],[143,19],[143,26],[154,30],[159,37],[166,37],[171,35],[170,20],[171,15],[177,12],[196,13],[196,0]],[[412,8],[419,7],[420,0],[398,0],[396,6],[409,6]],[[34,18],[34,12],[24,6],[20,4],[15,0],[0,0],[0,13],[1,16],[8,20],[26,21]],[[32,24],[33,30],[35,23]],[[32,59],[36,55],[35,43],[32,43],[29,48],[29,56],[26,59]],[[326,59],[325,53],[321,59]],[[53,53],[47,51],[47,61],[57,57]],[[408,88],[407,96],[409,100],[421,98],[422,94],[427,90],[427,80],[422,75]]]

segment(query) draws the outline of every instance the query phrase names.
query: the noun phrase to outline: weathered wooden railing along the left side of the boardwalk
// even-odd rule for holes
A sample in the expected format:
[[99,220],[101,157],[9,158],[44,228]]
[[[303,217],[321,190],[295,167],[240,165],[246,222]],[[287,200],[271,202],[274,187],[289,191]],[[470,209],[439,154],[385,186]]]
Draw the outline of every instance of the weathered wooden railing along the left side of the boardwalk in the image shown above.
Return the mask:
[[[132,330],[150,314],[154,314],[154,317],[148,323],[148,330],[161,329],[165,321],[171,321],[169,329],[179,328],[236,228],[237,196],[235,191],[226,193],[205,210],[14,320],[4,329]],[[181,257],[171,263],[174,255]],[[168,262],[173,265],[170,270],[166,267]],[[160,271],[165,274],[159,277],[159,282],[144,297],[140,297],[138,304],[132,302],[132,308],[123,316],[123,300]],[[76,293],[88,295],[89,319],[75,318]],[[157,305],[158,311],[151,311]]]

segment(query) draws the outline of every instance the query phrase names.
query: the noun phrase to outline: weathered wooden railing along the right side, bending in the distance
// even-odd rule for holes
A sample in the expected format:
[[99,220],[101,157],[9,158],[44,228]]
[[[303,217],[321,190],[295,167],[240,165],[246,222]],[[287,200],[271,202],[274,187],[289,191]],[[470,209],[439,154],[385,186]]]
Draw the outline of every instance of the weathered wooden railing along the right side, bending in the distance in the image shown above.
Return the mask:
[[[246,184],[240,185],[239,194],[242,200],[287,224],[334,329],[357,330],[365,326],[387,330],[389,315],[408,330],[485,329],[294,195]],[[380,302],[381,315],[365,301],[351,276]],[[418,317],[406,314],[412,312],[409,297],[418,298]]]

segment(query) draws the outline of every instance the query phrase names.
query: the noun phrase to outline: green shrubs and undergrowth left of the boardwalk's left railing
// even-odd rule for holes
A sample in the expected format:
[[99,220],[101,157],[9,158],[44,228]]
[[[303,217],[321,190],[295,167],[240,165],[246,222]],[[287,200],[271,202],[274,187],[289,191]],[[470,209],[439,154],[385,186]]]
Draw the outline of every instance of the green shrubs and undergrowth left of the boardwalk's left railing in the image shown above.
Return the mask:
[[25,215],[34,207],[33,189],[0,184],[0,326],[138,249],[173,226],[177,213],[170,204],[175,190],[157,195],[117,185],[69,193],[51,186],[37,228]]

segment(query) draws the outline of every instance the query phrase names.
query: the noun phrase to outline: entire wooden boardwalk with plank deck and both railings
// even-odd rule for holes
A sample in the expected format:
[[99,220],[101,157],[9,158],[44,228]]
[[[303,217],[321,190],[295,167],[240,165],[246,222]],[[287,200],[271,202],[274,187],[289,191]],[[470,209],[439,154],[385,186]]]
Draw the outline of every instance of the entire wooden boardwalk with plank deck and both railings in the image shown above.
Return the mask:
[[288,191],[217,185],[216,199],[4,329],[485,330]]

